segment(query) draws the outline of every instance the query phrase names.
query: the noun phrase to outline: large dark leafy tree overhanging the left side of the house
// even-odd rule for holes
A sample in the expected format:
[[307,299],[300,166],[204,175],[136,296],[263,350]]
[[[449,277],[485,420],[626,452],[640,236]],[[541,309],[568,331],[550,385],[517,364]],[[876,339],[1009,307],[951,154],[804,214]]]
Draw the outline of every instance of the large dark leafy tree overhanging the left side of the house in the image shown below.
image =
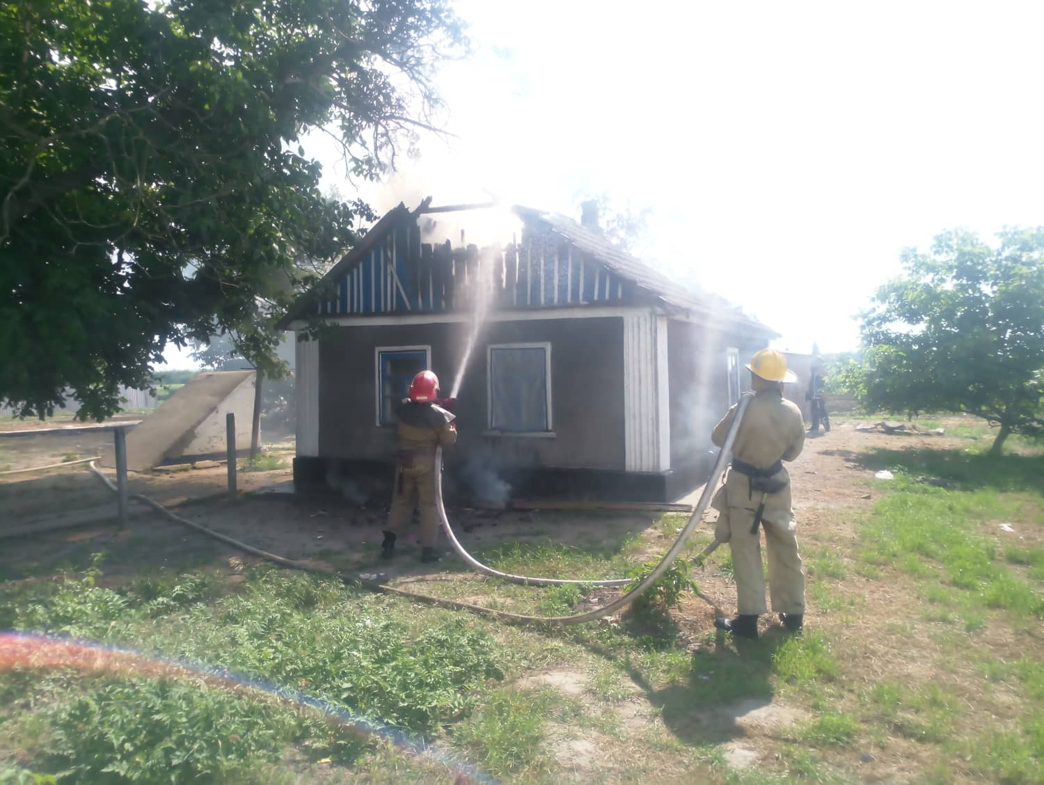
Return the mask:
[[464,43],[448,0],[0,5],[0,401],[101,419],[222,332],[278,375],[275,322],[373,218],[301,140],[379,176]]

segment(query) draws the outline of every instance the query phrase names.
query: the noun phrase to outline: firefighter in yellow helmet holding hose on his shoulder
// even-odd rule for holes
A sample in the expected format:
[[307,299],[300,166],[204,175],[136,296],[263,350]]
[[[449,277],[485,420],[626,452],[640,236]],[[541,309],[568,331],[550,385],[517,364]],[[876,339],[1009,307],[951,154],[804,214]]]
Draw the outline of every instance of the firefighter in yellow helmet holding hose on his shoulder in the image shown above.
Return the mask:
[[[711,502],[718,510],[714,536],[732,549],[738,613],[731,619],[715,619],[714,625],[733,635],[757,638],[758,616],[766,613],[761,528],[765,530],[773,610],[791,632],[802,628],[805,573],[790,507],[790,476],[783,461],[801,454],[805,421],[801,409],[783,398],[783,384],[797,381],[797,377],[787,371],[782,353],[763,349],[746,367],[754,400],[739,424],[725,484]],[[729,410],[711,434],[718,447],[725,444],[736,408]]]

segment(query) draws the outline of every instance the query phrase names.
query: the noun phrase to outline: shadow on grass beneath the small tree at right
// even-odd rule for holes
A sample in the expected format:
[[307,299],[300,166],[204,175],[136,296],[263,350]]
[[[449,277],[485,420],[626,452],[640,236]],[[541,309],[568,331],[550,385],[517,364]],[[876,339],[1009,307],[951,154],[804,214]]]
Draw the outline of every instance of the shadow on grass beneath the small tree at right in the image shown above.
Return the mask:
[[960,491],[1044,492],[1044,455],[989,455],[963,450],[872,450],[863,458],[872,469],[911,477],[947,480]]

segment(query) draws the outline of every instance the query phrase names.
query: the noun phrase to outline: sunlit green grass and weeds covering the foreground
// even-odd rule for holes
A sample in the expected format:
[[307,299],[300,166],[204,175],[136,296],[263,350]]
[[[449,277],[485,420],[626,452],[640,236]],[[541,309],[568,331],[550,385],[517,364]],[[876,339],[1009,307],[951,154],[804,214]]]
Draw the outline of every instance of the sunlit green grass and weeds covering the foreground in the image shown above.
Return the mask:
[[[1044,456],[862,459],[896,479],[864,480],[871,501],[824,506],[803,529],[799,638],[774,627],[732,642],[691,597],[669,613],[513,627],[264,566],[142,564],[114,579],[99,556],[7,581],[0,628],[152,660],[41,668],[0,648],[0,783],[450,783],[469,767],[520,783],[1044,782]],[[569,544],[535,526],[480,555],[508,572],[614,576],[683,522]],[[714,560],[722,584],[727,549]],[[600,603],[600,590],[505,585],[453,562],[400,585],[548,615]],[[360,735],[331,712],[394,732]],[[737,745],[757,764],[738,763]]]

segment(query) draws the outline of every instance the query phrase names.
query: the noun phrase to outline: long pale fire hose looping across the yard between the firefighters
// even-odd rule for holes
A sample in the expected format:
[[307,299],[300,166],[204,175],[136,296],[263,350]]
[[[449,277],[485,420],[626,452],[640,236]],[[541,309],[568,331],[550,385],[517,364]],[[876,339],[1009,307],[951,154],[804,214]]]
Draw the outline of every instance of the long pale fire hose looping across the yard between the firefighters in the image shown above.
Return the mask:
[[[633,602],[640,594],[642,594],[646,589],[648,589],[652,584],[655,584],[664,572],[666,572],[670,566],[674,563],[678,556],[681,554],[682,549],[688,542],[689,537],[695,530],[701,519],[703,518],[704,512],[707,509],[707,505],[710,503],[711,495],[717,487],[718,480],[721,479],[721,475],[725,473],[726,467],[729,463],[730,454],[732,452],[732,445],[736,441],[736,433],[739,429],[739,423],[743,418],[743,412],[746,410],[746,406],[751,401],[751,396],[744,395],[740,398],[739,406],[736,410],[736,417],[733,419],[732,427],[729,429],[729,433],[726,436],[725,444],[721,446],[720,452],[718,452],[717,459],[714,461],[714,467],[711,470],[710,477],[707,478],[707,484],[704,486],[703,493],[699,495],[699,501],[696,502],[695,509],[693,509],[692,515],[689,517],[688,523],[679,534],[678,540],[674,541],[673,546],[670,550],[664,554],[660,563],[652,568],[652,570],[638,584],[627,591],[625,594],[617,597],[615,600],[601,608],[596,608],[594,610],[588,611],[582,614],[575,614],[572,616],[528,616],[525,614],[514,614],[506,611],[497,611],[492,608],[483,608],[482,605],[474,605],[470,602],[459,602],[457,600],[443,599],[441,597],[433,597],[427,594],[421,594],[419,592],[410,592],[404,589],[398,589],[394,586],[388,586],[386,584],[380,584],[377,580],[370,578],[346,578],[333,570],[328,570],[323,567],[316,567],[314,565],[307,564],[305,562],[298,562],[292,558],[287,558],[286,556],[281,556],[277,553],[269,553],[268,551],[261,550],[260,548],[255,548],[252,545],[240,542],[228,534],[222,534],[219,531],[215,531],[208,528],[201,524],[189,521],[185,518],[181,518],[162,504],[149,499],[142,494],[133,494],[129,498],[140,501],[149,507],[156,509],[158,513],[166,516],[175,523],[180,523],[183,526],[188,526],[200,533],[212,537],[219,540],[228,545],[232,545],[247,553],[260,556],[266,561],[272,562],[274,564],[280,565],[281,567],[287,567],[294,570],[302,570],[304,572],[311,572],[318,575],[325,575],[327,577],[333,577],[338,580],[350,580],[352,582],[358,582],[360,586],[370,589],[372,591],[383,592],[385,594],[395,594],[402,597],[408,597],[410,599],[420,600],[430,604],[442,605],[444,608],[452,608],[455,610],[472,611],[479,614],[484,614],[488,616],[494,616],[502,621],[514,622],[514,623],[535,623],[535,624],[546,624],[548,626],[563,626],[567,624],[583,624],[588,621],[595,621],[596,619],[609,616],[614,611]],[[98,477],[101,478],[102,482],[109,487],[110,491],[114,493],[117,491],[116,485],[110,480],[102,472],[95,466],[92,460],[90,463],[91,471],[94,472]],[[456,536],[453,533],[453,529],[450,526],[449,519],[446,517],[446,507],[443,503],[443,483],[442,483],[442,449],[436,449],[435,452],[435,502],[438,508],[438,517],[443,525],[444,531],[449,539],[450,543],[453,545],[453,549],[456,553],[471,567],[483,572],[488,575],[494,577],[500,577],[505,580],[511,580],[513,582],[519,584],[529,584],[538,586],[562,586],[567,584],[575,585],[588,585],[588,586],[621,586],[624,584],[633,582],[632,579],[613,579],[613,580],[567,580],[560,578],[532,578],[525,575],[512,575],[509,573],[500,572],[492,567],[483,565],[478,560],[474,558],[464,546],[457,541]],[[711,542],[702,552],[701,557],[706,557],[711,552],[713,552],[720,543],[717,540]]]

